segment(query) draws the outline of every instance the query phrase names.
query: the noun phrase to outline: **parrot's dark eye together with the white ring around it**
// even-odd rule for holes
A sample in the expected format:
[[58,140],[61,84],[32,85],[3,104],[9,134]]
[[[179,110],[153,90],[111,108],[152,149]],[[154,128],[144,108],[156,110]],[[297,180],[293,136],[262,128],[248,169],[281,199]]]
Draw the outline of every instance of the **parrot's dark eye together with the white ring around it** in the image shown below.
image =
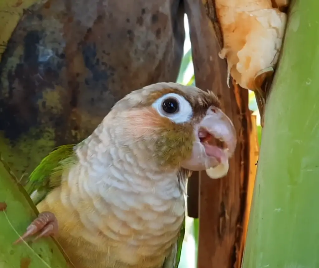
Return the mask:
[[176,93],[168,93],[158,98],[152,107],[157,110],[160,116],[167,117],[177,124],[185,123],[193,116],[190,103]]

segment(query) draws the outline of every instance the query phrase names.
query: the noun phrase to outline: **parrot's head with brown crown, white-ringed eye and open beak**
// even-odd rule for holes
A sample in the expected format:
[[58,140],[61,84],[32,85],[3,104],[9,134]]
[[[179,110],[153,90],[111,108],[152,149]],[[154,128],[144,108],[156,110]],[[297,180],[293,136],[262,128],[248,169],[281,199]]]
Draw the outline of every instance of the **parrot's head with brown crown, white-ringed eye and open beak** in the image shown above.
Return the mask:
[[131,92],[114,105],[102,125],[116,137],[117,148],[142,148],[145,159],[165,169],[213,169],[214,178],[226,175],[236,147],[233,123],[218,98],[178,83],[156,83]]

